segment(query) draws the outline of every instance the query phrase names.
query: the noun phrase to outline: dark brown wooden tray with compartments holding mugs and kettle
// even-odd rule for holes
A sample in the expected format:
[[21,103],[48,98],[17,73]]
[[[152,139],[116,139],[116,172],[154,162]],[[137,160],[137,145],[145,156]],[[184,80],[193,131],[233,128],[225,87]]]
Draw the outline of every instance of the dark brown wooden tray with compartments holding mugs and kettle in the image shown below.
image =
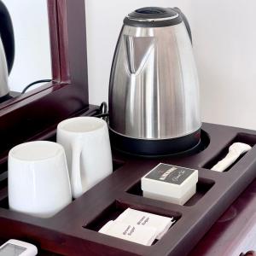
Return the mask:
[[[143,159],[113,152],[115,172],[53,218],[10,211],[4,179],[0,183],[0,237],[30,241],[66,255],[186,255],[256,177],[256,147],[227,172],[209,170],[227,154],[231,143],[254,146],[256,131],[212,124],[203,124],[202,129],[201,146],[193,154]],[[198,169],[197,192],[184,206],[142,196],[140,178],[160,162]],[[1,175],[0,180],[4,172]],[[177,221],[151,247],[97,232],[127,207],[173,216]]]

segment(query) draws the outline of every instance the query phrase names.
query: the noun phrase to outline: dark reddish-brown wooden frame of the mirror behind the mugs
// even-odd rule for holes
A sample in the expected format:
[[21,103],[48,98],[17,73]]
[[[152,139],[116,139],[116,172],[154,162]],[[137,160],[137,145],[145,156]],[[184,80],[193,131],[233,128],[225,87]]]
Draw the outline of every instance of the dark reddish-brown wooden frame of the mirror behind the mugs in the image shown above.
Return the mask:
[[[8,4],[10,0],[4,1]],[[17,8],[24,1],[12,2]],[[34,2],[41,1],[48,6],[52,81],[0,104],[0,164],[15,145],[55,136],[61,120],[99,111],[89,104],[84,0]],[[27,60],[22,61],[23,66],[28,65]]]

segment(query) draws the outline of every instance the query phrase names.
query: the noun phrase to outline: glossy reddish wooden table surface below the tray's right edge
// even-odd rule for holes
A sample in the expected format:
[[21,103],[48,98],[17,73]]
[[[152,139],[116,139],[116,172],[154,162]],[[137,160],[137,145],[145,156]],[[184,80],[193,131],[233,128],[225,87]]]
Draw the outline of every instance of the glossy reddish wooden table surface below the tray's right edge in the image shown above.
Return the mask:
[[189,256],[239,256],[250,250],[256,251],[256,180],[213,224]]

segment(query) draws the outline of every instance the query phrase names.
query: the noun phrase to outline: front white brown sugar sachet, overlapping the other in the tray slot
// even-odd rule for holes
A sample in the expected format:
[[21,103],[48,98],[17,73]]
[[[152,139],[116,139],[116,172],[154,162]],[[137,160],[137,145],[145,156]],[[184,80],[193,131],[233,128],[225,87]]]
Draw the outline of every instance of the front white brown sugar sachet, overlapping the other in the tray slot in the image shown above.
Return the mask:
[[157,235],[155,228],[125,224],[123,222],[113,220],[108,221],[108,223],[105,224],[99,232],[108,236],[137,242],[145,246],[152,245]]

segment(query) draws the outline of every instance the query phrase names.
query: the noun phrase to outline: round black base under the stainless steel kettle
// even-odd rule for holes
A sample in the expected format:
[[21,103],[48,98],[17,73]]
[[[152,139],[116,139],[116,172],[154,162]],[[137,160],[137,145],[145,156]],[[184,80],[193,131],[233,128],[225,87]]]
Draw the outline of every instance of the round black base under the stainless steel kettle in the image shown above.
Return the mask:
[[210,138],[201,129],[183,137],[145,140],[125,137],[109,129],[111,147],[123,154],[154,158],[196,154],[207,148]]

